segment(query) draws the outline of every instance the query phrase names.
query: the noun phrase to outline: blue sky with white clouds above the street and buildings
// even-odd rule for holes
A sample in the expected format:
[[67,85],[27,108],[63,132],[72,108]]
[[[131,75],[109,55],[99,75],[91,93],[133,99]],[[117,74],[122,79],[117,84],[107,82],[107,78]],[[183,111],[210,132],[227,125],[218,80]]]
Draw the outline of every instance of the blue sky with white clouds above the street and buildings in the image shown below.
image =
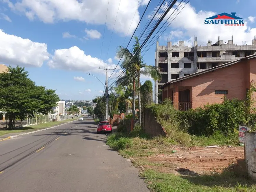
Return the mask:
[[[118,63],[115,59],[116,48],[127,45],[148,0],[141,0],[138,10],[139,0],[121,0],[120,6],[119,0],[109,0],[105,34],[108,0],[44,2],[0,0],[0,63],[24,66],[29,71],[29,78],[37,85],[56,89],[63,99],[84,100],[102,95],[104,86],[87,73],[105,81],[104,71],[98,70],[99,66],[113,68]],[[135,35],[139,35],[148,15],[152,14],[158,3],[151,1]],[[246,3],[241,0],[191,0],[159,37],[160,45],[167,44],[167,39],[170,39],[172,44],[185,41],[189,46],[194,36],[197,36],[198,44],[202,45],[207,40],[215,43],[217,36],[227,42],[232,35],[236,44],[252,44],[251,40],[256,35],[255,7],[254,0],[247,0]],[[222,12],[236,12],[237,16],[245,19],[246,25],[205,26],[205,18]],[[143,57],[147,64],[154,65],[155,44]],[[146,79],[142,77],[142,81]],[[110,79],[110,83],[113,80]]]

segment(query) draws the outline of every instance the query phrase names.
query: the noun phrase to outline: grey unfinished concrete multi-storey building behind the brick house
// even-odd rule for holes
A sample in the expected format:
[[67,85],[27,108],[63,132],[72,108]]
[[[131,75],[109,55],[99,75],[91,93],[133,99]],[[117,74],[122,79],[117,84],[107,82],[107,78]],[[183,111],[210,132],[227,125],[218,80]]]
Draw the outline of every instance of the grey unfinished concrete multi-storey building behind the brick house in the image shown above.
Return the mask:
[[256,54],[256,36],[252,39],[252,45],[233,44],[233,36],[228,43],[218,37],[215,44],[208,41],[207,46],[198,46],[195,37],[192,47],[184,46],[184,41],[179,41],[178,46],[172,45],[172,42],[167,42],[167,46],[159,46],[157,41],[155,66],[162,80],[155,82],[155,103],[161,102],[158,88],[164,83],[252,54]]

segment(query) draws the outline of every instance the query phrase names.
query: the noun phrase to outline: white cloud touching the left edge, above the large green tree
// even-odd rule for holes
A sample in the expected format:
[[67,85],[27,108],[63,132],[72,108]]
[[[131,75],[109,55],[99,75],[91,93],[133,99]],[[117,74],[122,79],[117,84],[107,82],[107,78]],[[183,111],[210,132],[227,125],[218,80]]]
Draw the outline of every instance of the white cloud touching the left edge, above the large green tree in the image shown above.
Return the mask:
[[0,29],[0,63],[41,67],[49,59],[47,45],[33,42],[15,35],[4,33]]

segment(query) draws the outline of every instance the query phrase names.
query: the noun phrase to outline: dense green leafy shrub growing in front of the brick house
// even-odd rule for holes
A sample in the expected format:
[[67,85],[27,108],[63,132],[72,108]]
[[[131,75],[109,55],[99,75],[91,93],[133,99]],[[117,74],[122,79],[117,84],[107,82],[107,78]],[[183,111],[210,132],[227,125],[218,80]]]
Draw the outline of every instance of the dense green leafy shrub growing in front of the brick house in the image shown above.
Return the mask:
[[244,101],[233,98],[232,100],[225,99],[221,104],[179,111],[178,116],[183,124],[189,125],[189,133],[209,136],[215,131],[220,131],[225,135],[233,133],[234,128],[248,124],[248,117],[255,115],[247,114]]

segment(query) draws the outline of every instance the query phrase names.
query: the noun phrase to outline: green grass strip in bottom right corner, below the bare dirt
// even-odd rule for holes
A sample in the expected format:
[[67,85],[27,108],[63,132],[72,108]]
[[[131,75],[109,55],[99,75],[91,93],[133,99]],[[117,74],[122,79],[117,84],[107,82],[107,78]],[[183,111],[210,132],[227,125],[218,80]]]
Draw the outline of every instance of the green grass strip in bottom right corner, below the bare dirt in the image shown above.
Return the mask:
[[232,171],[209,173],[201,176],[174,175],[159,173],[152,169],[141,173],[148,188],[155,192],[252,192],[256,191],[252,181],[237,178]]

